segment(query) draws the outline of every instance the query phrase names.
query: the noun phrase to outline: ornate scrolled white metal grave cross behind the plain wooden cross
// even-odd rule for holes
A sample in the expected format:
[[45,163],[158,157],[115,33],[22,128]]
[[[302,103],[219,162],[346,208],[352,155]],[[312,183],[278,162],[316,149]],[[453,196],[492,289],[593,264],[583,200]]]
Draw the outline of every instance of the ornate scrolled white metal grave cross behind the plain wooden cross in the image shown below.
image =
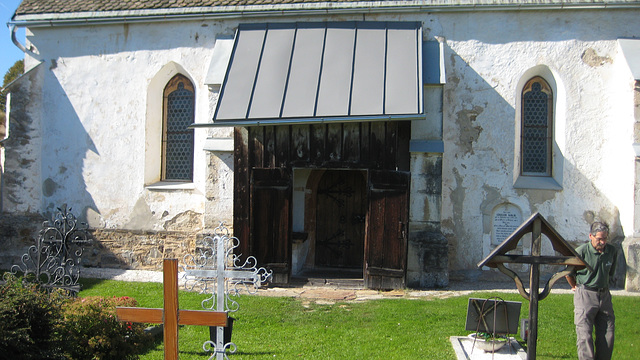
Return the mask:
[[[229,229],[221,223],[214,231],[214,236],[207,236],[198,243],[196,255],[184,257],[185,286],[211,296],[202,301],[204,309],[218,312],[235,312],[239,309],[237,301],[231,295],[238,296],[240,291],[255,293],[260,285],[267,282],[272,271],[257,267],[257,260],[253,256],[242,262],[241,254],[234,254],[233,250],[240,244],[240,240],[229,235]],[[213,355],[209,358],[228,359],[226,352],[233,354],[237,346],[233,342],[225,343],[224,328],[216,328],[216,342],[205,341],[205,351],[213,347]]]

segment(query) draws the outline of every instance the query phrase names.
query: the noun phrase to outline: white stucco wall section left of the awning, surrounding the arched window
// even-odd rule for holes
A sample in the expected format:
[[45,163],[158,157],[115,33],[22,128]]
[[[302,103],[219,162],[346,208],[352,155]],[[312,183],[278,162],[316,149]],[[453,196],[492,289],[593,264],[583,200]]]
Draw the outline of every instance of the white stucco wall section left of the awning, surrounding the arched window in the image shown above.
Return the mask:
[[[47,67],[41,177],[48,190],[42,209],[69,203],[86,211],[91,226],[141,230],[165,229],[166,221],[185,211],[204,213],[206,129],[195,130],[192,184],[145,186],[153,184],[145,168],[159,169],[159,159],[145,158],[149,142],[159,146],[159,134],[146,124],[161,124],[162,116],[161,109],[148,111],[153,99],[147,93],[167,64],[177,64],[196,87],[196,121],[211,119],[204,77],[216,34],[225,31],[199,22],[32,29],[28,40]],[[217,168],[228,177],[232,162],[222,163]],[[228,201],[232,188],[219,197]]]

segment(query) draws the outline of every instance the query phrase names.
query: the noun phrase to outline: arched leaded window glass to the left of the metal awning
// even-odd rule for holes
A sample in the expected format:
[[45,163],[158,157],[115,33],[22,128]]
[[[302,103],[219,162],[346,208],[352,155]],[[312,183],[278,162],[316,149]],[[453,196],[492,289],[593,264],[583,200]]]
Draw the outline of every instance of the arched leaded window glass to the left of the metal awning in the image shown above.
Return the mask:
[[164,88],[162,180],[193,180],[193,129],[195,94],[183,75],[174,76]]

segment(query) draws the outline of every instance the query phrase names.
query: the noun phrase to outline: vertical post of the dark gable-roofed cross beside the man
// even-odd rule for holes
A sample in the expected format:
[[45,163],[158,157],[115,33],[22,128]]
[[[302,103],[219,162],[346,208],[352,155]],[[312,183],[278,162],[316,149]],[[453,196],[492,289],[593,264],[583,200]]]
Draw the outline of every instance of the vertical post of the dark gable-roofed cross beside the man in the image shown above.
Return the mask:
[[[540,219],[533,222],[531,232],[531,255],[540,256],[542,243],[542,224]],[[531,264],[529,272],[529,338],[527,339],[527,359],[536,359],[538,344],[538,295],[540,293],[540,265]]]

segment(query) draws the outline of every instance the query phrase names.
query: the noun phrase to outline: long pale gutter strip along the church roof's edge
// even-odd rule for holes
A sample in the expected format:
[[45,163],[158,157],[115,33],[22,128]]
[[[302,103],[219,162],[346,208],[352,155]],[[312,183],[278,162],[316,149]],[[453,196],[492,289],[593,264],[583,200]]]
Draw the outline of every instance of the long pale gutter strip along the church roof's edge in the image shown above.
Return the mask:
[[475,1],[361,1],[321,2],[277,5],[210,6],[169,9],[117,10],[70,13],[42,13],[14,15],[8,23],[17,27],[79,26],[128,22],[156,22],[179,20],[209,20],[229,18],[317,16],[362,13],[400,12],[468,12],[468,11],[523,11],[568,9],[640,9],[638,1],[594,2],[535,2],[513,3],[494,1],[478,4]]

